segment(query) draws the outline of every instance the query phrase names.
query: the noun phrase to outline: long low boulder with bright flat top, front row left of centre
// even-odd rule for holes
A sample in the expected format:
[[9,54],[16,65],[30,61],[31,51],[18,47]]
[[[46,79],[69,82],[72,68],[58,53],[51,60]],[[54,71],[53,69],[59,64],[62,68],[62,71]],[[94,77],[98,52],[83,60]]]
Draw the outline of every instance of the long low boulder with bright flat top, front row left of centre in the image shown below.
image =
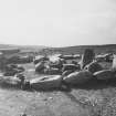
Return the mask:
[[43,76],[39,78],[33,78],[30,81],[31,87],[35,89],[59,88],[61,86],[61,83],[62,83],[61,75]]

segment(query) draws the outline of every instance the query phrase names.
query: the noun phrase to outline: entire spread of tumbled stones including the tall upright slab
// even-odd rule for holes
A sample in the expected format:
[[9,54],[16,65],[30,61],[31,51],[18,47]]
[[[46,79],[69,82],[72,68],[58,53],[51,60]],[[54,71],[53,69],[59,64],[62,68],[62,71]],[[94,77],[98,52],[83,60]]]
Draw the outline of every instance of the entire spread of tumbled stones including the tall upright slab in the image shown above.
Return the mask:
[[[75,61],[67,63],[66,60],[57,55],[36,56],[33,63],[36,73],[49,75],[31,81],[25,81],[22,75],[18,75],[21,81],[21,88],[50,89],[61,87],[63,84],[84,84],[92,78],[98,81],[116,78],[116,55],[114,55],[113,66],[105,70],[96,61],[94,51],[89,49],[85,50],[80,63]],[[18,65],[10,65],[6,71],[14,72],[14,75],[22,72],[23,68],[19,68]]]

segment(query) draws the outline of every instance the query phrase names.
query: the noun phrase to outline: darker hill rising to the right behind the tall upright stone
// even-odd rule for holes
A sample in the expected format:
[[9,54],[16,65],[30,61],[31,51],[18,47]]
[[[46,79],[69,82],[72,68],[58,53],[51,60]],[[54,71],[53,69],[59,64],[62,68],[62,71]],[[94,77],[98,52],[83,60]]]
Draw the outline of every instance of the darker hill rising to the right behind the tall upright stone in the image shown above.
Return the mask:
[[93,49],[96,54],[101,53],[116,53],[116,44],[105,44],[105,45],[77,45],[77,46],[66,46],[66,48],[49,48],[43,49],[43,53],[62,53],[62,54],[83,54],[85,49]]

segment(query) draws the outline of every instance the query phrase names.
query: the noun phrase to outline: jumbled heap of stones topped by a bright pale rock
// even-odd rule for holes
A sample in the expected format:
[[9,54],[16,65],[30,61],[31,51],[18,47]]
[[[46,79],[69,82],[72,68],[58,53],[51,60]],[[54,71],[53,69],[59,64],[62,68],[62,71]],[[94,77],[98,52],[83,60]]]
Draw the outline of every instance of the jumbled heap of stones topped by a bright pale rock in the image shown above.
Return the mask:
[[35,72],[43,74],[61,74],[62,60],[55,56],[38,56],[33,62]]

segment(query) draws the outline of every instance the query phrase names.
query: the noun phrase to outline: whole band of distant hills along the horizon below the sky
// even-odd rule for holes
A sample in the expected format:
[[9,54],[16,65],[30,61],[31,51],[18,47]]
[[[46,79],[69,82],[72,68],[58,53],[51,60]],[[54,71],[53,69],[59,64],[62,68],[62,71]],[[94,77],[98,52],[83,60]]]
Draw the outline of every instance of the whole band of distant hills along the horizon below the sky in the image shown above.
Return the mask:
[[116,44],[105,44],[105,45],[77,45],[77,46],[66,46],[66,48],[48,48],[43,45],[12,45],[12,44],[0,44],[0,49],[20,49],[21,52],[38,52],[40,54],[82,54],[85,49],[93,49],[96,54],[99,53],[116,53]]

